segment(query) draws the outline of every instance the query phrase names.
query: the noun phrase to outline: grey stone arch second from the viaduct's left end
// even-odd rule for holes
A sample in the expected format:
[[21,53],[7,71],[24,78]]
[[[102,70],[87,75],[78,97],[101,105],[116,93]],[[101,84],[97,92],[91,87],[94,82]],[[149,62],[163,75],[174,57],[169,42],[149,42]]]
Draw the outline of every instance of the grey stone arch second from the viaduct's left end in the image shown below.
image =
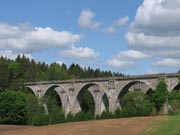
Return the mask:
[[46,94],[48,94],[48,92],[50,92],[52,89],[58,94],[61,102],[61,106],[64,109],[65,114],[67,114],[70,111],[69,108],[70,101],[69,101],[69,94],[63,86],[59,84],[48,85],[46,90],[43,91],[42,97],[45,97]]

